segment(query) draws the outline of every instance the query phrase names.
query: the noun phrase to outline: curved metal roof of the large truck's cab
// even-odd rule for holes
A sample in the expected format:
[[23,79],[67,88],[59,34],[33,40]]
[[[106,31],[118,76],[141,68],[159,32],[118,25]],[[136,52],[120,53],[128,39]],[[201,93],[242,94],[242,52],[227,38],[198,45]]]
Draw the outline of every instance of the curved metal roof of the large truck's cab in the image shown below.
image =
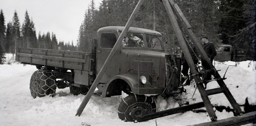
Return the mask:
[[[107,27],[102,27],[100,28],[97,32],[102,32],[102,31],[117,31],[117,32],[122,32],[124,29],[124,26],[107,26]],[[130,27],[127,32],[131,33],[145,33],[145,34],[151,34],[151,35],[157,35],[157,36],[162,36],[161,33],[153,31],[153,30],[148,30],[148,29],[142,29],[138,27]]]

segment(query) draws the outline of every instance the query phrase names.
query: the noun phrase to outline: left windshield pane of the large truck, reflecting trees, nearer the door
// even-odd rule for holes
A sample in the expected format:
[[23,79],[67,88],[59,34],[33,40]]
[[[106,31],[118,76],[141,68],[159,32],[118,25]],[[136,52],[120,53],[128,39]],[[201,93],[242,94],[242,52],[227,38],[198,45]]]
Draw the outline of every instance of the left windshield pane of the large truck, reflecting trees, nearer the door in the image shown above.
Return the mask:
[[126,48],[145,48],[143,35],[140,33],[127,33],[122,44]]

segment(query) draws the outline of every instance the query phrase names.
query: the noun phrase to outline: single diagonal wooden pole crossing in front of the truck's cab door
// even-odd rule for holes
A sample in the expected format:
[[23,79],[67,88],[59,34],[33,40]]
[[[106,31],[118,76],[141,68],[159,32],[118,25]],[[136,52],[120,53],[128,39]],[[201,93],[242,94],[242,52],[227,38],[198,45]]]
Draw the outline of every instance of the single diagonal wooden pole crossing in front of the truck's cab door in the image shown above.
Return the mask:
[[77,110],[77,114],[76,116],[80,116],[81,113],[83,112],[83,109],[85,108],[85,106],[87,105],[88,101],[90,100],[94,90],[96,89],[97,85],[99,84],[102,76],[104,75],[106,69],[109,66],[110,61],[112,60],[115,52],[120,48],[120,44],[122,42],[122,40],[124,39],[124,36],[126,34],[126,32],[128,31],[129,27],[132,25],[132,21],[136,15],[136,13],[139,11],[140,6],[142,5],[142,3],[144,2],[144,0],[140,0],[136,7],[134,8],[132,15],[130,16],[129,20],[127,21],[122,33],[120,34],[120,36],[118,37],[113,49],[111,50],[108,58],[106,59],[105,63],[103,64],[103,66],[100,69],[100,72],[98,73],[98,75],[96,76],[95,80],[92,83],[91,88],[89,89],[88,93],[85,95],[81,105],[79,106],[78,110]]

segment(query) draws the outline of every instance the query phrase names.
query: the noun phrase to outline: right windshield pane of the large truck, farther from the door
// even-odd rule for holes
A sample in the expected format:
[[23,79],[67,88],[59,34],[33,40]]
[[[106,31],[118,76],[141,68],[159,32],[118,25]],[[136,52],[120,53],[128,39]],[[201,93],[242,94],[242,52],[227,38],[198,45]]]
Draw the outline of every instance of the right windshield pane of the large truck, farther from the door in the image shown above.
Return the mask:
[[146,40],[147,40],[147,48],[163,50],[162,37],[146,34]]

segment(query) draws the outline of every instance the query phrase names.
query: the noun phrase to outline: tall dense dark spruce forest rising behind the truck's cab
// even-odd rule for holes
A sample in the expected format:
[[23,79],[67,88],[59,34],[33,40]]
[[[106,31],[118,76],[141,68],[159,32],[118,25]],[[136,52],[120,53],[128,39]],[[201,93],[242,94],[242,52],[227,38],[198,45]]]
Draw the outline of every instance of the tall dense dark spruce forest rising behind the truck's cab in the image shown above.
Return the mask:
[[[174,1],[198,38],[206,34],[216,47],[219,44],[229,44],[234,48],[255,50],[255,0]],[[78,50],[90,51],[91,39],[96,38],[99,28],[125,26],[137,2],[138,0],[102,0],[96,8],[92,0],[80,26]],[[161,0],[144,1],[132,27],[160,32],[165,42],[165,51],[180,54],[181,49]]]

